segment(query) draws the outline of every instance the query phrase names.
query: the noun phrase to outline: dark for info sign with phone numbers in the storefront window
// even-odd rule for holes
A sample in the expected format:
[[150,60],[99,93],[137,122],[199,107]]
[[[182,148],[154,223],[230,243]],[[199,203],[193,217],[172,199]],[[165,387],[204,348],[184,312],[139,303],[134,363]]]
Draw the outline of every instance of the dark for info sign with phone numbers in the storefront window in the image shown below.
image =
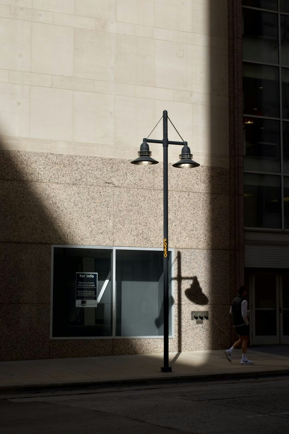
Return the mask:
[[97,307],[97,273],[76,273],[76,307]]

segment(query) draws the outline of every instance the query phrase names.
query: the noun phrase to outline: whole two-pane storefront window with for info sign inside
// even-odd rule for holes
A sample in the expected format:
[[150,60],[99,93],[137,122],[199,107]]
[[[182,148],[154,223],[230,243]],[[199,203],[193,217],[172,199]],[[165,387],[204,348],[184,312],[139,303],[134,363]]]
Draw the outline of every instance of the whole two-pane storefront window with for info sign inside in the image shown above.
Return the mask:
[[[52,246],[52,265],[52,339],[163,336],[162,249]],[[172,251],[169,303],[172,335]]]

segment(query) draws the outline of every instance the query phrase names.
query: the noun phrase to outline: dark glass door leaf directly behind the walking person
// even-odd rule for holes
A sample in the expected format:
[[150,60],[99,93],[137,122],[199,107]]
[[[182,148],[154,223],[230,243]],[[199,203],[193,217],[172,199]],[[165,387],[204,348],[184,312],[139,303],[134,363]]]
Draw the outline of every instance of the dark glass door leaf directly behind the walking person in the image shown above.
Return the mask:
[[279,275],[252,276],[252,344],[279,344]]

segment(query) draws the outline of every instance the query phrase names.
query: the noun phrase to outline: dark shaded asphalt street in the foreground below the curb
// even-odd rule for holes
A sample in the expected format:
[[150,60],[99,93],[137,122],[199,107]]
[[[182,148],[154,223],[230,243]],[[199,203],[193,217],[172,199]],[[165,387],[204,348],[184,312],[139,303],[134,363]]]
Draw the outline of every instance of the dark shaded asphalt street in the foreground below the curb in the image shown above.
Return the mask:
[[1,434],[288,431],[288,376],[0,396]]

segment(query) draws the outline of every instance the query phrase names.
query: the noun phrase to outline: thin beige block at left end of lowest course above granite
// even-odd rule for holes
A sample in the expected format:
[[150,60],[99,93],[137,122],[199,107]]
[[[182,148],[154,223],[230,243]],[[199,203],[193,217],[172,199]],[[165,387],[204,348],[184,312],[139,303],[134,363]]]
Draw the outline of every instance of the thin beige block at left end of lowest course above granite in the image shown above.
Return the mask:
[[51,140],[26,137],[1,136],[0,141],[4,149],[16,151],[50,152]]

